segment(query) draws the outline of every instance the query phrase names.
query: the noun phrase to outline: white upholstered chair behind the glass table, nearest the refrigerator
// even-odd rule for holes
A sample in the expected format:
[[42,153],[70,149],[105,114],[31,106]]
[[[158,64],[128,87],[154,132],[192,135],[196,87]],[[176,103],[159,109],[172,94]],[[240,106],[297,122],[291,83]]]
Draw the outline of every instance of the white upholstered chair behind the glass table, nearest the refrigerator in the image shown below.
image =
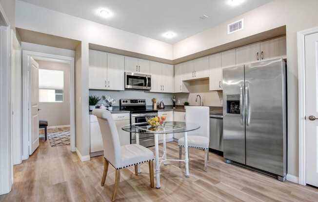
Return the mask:
[[[204,106],[187,106],[185,108],[185,121],[197,123],[200,128],[188,132],[188,148],[204,150],[204,171],[207,170],[207,161],[209,159],[209,141],[210,141],[210,109]],[[182,148],[184,147],[184,137],[178,141],[179,159],[182,157]],[[187,149],[187,148],[186,148]],[[188,150],[189,151],[189,150]],[[180,163],[179,163],[180,167]]]

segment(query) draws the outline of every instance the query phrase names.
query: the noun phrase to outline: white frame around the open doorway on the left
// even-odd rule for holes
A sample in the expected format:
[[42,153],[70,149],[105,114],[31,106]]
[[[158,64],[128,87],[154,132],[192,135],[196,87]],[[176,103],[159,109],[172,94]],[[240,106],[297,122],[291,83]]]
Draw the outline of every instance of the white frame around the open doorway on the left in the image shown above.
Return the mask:
[[54,55],[42,52],[35,52],[29,50],[22,50],[22,111],[23,111],[23,154],[22,159],[29,158],[29,127],[30,127],[30,97],[28,92],[29,86],[29,69],[28,59],[29,57],[42,57],[48,58],[52,61],[66,61],[70,64],[70,149],[71,152],[75,152],[75,58],[61,55]]

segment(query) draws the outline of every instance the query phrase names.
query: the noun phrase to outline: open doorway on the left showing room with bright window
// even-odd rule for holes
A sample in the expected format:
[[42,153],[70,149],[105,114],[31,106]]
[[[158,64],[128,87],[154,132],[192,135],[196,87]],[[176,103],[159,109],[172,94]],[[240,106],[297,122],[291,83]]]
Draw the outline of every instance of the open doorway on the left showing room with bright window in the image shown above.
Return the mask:
[[45,138],[39,121],[46,122],[46,129],[67,128],[64,134],[47,134],[47,139],[64,135],[75,152],[74,58],[23,50],[22,67],[23,159],[39,147],[40,130]]

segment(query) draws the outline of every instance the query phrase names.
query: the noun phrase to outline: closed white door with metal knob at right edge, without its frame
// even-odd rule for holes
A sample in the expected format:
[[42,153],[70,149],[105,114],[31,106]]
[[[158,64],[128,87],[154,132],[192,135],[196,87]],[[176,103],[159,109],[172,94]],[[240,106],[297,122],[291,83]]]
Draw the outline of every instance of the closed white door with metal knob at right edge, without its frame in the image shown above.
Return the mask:
[[305,36],[306,183],[318,186],[318,33]]

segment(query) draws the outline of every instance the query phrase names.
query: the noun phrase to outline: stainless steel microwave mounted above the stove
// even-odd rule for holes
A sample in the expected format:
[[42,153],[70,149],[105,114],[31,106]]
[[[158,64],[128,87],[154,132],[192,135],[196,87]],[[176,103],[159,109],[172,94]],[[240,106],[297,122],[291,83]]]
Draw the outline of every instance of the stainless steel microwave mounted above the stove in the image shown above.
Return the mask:
[[151,90],[151,75],[125,72],[125,89]]

